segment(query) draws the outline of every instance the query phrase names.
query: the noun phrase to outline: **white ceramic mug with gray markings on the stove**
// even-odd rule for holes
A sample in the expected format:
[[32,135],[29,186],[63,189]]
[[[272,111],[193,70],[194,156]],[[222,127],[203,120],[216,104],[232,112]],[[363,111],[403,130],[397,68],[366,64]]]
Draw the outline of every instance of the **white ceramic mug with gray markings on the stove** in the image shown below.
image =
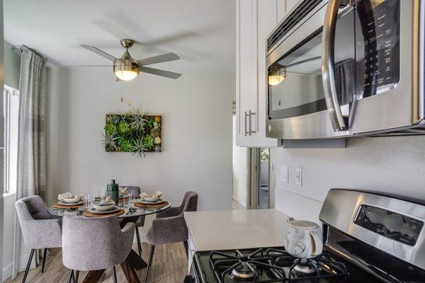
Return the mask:
[[288,220],[285,248],[295,258],[314,258],[323,250],[322,229],[312,221]]

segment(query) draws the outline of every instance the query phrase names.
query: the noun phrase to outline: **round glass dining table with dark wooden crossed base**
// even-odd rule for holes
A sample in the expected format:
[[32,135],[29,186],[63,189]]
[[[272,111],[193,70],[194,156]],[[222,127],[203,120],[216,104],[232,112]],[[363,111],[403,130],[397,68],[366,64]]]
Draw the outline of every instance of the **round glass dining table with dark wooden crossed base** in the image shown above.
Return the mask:
[[[135,223],[140,216],[156,214],[158,212],[162,212],[168,209],[169,207],[171,207],[171,203],[167,201],[165,202],[164,206],[149,207],[149,205],[135,206],[135,204],[125,206],[120,202],[118,207],[124,210],[123,214],[117,215],[118,219],[120,220],[120,226],[122,228],[125,226],[125,224],[128,224],[129,222]],[[74,208],[68,208],[68,209],[57,208],[52,205],[47,209],[47,212],[49,212],[52,215],[60,216],[60,217],[64,215],[75,215],[77,217],[87,217],[84,215],[84,212],[86,210],[88,210],[88,207],[85,207],[84,205],[81,205],[81,207],[74,207]],[[106,214],[103,216],[106,217],[108,215]],[[142,270],[145,267],[147,267],[147,263],[145,262],[145,260],[140,258],[140,255],[138,255],[136,251],[133,249],[130,251],[130,254],[128,255],[125,262],[121,263],[121,268],[123,269],[124,275],[129,283],[140,283],[140,279],[139,277],[137,277],[136,270]],[[83,282],[85,283],[98,282],[98,279],[101,278],[101,276],[103,275],[103,272],[105,272],[105,270],[92,270],[89,273],[87,273]]]

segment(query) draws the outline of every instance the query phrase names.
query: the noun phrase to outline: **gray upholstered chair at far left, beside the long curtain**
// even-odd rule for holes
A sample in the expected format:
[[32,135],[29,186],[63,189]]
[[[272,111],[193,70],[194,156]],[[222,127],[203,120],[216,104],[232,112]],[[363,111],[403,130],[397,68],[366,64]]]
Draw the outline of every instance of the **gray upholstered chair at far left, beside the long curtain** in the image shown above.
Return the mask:
[[25,282],[35,249],[44,248],[41,269],[41,272],[44,272],[47,248],[62,246],[62,219],[49,214],[45,202],[38,195],[17,200],[15,207],[19,224],[21,224],[23,241],[28,248],[31,248],[30,258],[28,258],[22,279],[22,282]]

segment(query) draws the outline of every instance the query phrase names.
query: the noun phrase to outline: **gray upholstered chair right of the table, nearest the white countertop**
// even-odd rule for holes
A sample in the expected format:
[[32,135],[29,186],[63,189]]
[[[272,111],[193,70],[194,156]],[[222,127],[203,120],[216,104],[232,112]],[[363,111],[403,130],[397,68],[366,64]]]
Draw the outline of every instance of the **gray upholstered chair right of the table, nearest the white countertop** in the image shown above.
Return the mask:
[[198,194],[186,192],[180,207],[170,207],[159,212],[157,219],[152,221],[152,227],[147,232],[147,242],[151,245],[151,248],[147,261],[145,283],[152,265],[156,245],[183,242],[186,256],[188,256],[188,227],[183,214],[184,212],[196,212],[196,209],[198,209]]

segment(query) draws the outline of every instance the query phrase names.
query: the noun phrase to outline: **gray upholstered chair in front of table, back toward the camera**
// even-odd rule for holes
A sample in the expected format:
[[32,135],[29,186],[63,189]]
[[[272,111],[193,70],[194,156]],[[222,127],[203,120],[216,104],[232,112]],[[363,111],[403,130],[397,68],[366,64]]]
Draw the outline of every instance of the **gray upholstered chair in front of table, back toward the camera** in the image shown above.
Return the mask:
[[[69,268],[68,282],[78,282],[81,270],[106,270],[125,261],[132,248],[135,224],[123,229],[116,216],[89,218],[66,215],[63,219],[62,262]],[[74,274],[74,270],[76,273]]]

